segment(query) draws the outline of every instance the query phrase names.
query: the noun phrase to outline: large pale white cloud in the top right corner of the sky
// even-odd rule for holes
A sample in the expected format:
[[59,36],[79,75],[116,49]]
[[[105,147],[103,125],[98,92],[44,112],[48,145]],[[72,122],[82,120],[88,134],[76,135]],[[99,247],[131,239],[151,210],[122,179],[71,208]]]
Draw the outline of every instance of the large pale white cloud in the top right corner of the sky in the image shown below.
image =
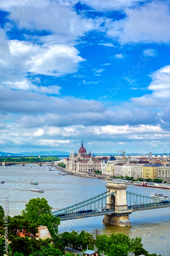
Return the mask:
[[106,33],[120,44],[167,43],[170,41],[169,6],[162,2],[151,2],[136,8],[126,8],[126,18],[106,20]]

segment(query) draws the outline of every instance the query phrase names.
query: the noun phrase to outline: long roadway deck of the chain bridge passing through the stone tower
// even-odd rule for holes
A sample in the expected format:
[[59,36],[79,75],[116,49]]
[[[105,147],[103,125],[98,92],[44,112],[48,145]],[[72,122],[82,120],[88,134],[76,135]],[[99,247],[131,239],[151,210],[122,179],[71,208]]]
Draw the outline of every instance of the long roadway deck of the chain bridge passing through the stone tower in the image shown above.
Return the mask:
[[[131,214],[133,211],[139,211],[139,210],[149,210],[149,209],[158,209],[158,208],[164,208],[164,207],[170,207],[170,202],[169,203],[152,203],[148,205],[140,204],[140,205],[131,205],[128,206],[127,210],[121,210],[121,211],[116,211],[113,209],[106,209],[106,210],[93,210],[92,212],[85,212],[83,214],[77,213],[72,213],[72,214],[65,214],[64,216],[59,216],[55,215],[56,217],[59,217],[61,221],[66,221],[66,220],[73,220],[73,219],[81,219],[81,218],[88,218],[88,217],[95,217],[95,216],[102,216],[102,215],[109,215],[109,214],[115,214],[117,216],[119,215],[127,215]],[[53,213],[53,212],[52,212]]]

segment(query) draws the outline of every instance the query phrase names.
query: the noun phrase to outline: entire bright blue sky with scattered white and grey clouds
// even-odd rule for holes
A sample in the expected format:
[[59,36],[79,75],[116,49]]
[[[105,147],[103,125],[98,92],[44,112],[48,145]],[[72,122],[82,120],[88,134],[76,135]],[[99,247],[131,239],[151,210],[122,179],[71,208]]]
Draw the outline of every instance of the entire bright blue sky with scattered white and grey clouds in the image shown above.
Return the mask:
[[0,151],[170,152],[169,1],[0,10]]

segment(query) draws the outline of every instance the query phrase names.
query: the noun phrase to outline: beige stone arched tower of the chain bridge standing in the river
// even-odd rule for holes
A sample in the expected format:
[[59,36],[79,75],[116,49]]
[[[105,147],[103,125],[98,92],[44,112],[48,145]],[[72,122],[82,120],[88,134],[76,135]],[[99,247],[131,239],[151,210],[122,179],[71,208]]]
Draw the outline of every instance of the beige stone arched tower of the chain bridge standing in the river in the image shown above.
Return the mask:
[[115,209],[114,214],[105,215],[103,222],[114,226],[130,227],[129,214],[132,210],[129,210],[127,205],[126,189],[128,186],[123,182],[108,182],[105,186],[110,193],[114,191],[116,193],[107,197],[106,202],[106,208]]

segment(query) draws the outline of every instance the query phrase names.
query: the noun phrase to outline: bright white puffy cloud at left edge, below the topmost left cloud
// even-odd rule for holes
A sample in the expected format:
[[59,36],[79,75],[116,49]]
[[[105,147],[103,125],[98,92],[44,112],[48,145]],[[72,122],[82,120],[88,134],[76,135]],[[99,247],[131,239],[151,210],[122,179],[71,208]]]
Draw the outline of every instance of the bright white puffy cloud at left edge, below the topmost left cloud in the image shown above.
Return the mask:
[[26,81],[25,86],[21,85],[21,82],[18,83],[18,77],[22,80],[28,72],[58,77],[76,73],[79,63],[84,61],[75,47],[60,44],[40,46],[27,41],[7,41],[5,38],[3,40],[3,54],[0,58],[1,79],[9,81],[17,77],[16,87],[33,87],[31,83],[26,86]]

